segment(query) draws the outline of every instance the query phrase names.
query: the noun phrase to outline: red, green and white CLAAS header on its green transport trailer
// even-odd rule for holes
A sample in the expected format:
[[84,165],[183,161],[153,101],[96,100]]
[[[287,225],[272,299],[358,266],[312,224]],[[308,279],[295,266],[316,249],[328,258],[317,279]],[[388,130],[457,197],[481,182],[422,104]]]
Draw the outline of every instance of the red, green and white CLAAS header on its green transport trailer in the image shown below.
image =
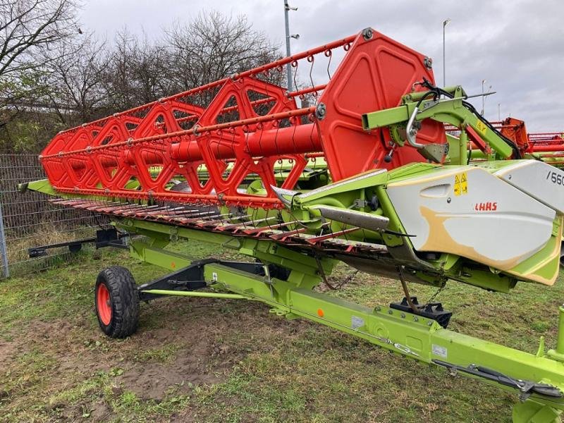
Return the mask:
[[[288,63],[311,86],[287,92]],[[321,85],[311,79],[319,63]],[[63,131],[40,157],[48,180],[22,188],[111,216],[116,228],[99,231],[97,247],[172,271],[142,286],[120,266],[99,274],[94,300],[109,336],[135,333],[140,300],[257,300],[517,391],[515,422],[556,422],[564,308],[556,348],[542,338],[532,355],[448,331],[451,312],[409,293],[409,282],[448,281],[508,293],[558,276],[564,172],[543,161],[546,145],[511,132],[517,123],[492,125],[467,98],[435,85],[429,57],[367,28]],[[145,238],[125,246],[125,233]],[[252,260],[164,250],[178,238]],[[398,278],[403,300],[372,309],[314,292],[339,261]]]

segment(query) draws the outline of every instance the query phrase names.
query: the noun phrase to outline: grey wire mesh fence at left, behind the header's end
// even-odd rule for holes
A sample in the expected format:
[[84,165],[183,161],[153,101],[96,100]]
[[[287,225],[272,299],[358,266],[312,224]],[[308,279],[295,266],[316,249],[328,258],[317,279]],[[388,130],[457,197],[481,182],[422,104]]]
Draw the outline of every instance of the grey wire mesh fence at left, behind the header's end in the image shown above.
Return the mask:
[[109,223],[104,216],[55,206],[42,193],[18,190],[19,183],[44,178],[37,155],[0,154],[0,278],[47,269],[71,254],[58,247],[30,258],[29,248],[88,238]]

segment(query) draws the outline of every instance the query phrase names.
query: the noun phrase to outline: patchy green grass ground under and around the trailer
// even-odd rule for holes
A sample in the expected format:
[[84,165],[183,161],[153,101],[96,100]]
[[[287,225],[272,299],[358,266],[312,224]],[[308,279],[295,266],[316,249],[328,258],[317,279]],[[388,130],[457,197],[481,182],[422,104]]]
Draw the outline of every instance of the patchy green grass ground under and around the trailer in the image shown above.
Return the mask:
[[[216,247],[180,244],[205,257]],[[508,422],[516,396],[269,307],[241,300],[164,298],[141,307],[140,330],[106,338],[93,311],[105,266],[137,283],[165,272],[126,252],[0,281],[2,422]],[[331,276],[352,274],[340,265]],[[412,286],[423,300],[434,289]],[[449,329],[530,353],[556,337],[563,281],[520,283],[510,295],[450,283],[437,300]],[[364,305],[402,297],[397,281],[359,273],[338,295]]]

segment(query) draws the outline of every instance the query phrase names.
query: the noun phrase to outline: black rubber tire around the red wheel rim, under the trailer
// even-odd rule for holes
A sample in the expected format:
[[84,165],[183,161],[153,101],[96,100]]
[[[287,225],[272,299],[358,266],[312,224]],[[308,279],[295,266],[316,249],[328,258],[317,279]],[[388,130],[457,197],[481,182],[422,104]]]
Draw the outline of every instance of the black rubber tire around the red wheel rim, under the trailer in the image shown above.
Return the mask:
[[[104,324],[98,311],[98,286],[104,283],[109,291],[111,319]],[[102,270],[96,279],[94,305],[100,329],[111,338],[127,338],[137,331],[139,325],[139,293],[135,279],[128,269],[111,266]]]

